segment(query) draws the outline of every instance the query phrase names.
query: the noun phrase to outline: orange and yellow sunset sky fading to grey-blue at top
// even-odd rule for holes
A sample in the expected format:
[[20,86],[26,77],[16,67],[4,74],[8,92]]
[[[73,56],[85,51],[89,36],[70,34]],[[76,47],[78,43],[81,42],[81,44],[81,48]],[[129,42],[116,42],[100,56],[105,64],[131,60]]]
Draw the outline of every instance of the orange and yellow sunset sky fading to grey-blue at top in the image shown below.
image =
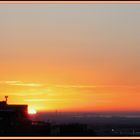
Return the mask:
[[140,111],[140,4],[0,4],[0,100],[36,110]]

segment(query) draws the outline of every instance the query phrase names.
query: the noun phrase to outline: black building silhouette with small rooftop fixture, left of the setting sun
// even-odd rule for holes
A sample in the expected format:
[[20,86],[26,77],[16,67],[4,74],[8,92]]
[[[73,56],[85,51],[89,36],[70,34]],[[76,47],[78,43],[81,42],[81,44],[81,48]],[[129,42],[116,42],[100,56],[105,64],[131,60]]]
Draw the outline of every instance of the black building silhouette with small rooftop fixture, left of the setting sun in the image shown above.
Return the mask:
[[8,96],[0,101],[0,136],[48,136],[50,125],[32,121],[28,105],[8,104]]

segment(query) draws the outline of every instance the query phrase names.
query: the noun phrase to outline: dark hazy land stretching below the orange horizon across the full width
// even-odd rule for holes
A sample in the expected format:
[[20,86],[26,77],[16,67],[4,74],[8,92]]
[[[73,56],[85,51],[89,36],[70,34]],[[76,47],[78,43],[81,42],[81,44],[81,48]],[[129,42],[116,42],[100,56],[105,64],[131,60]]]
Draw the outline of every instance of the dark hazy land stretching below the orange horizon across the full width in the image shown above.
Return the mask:
[[1,136],[140,136],[140,118],[81,113],[38,113],[0,120]]

